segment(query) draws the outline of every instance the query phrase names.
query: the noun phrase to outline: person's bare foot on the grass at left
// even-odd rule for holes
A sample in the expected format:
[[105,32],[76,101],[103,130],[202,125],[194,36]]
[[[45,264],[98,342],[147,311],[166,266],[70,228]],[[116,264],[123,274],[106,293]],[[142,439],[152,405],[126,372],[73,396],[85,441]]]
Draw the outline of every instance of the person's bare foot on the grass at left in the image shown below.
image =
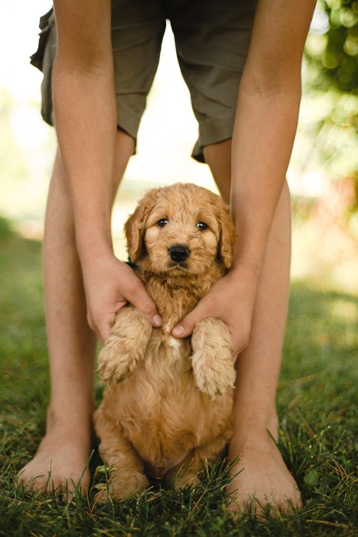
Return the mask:
[[[23,483],[26,489],[41,494],[73,492],[88,460],[89,438],[89,432],[69,430],[68,424],[50,427],[34,458],[19,471],[18,485]],[[88,485],[87,468],[79,484],[81,494],[86,494]]]

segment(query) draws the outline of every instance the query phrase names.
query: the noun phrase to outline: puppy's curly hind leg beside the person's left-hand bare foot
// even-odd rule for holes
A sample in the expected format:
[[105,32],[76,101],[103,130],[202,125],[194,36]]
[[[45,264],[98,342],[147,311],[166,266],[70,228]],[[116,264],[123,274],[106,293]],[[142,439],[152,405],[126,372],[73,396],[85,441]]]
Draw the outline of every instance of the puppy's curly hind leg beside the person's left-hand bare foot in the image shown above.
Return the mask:
[[115,468],[109,472],[108,487],[103,487],[96,497],[106,502],[108,496],[124,500],[142,492],[149,485],[143,460],[123,436],[120,426],[111,422],[101,409],[94,413],[94,424],[101,440],[100,455],[109,468]]

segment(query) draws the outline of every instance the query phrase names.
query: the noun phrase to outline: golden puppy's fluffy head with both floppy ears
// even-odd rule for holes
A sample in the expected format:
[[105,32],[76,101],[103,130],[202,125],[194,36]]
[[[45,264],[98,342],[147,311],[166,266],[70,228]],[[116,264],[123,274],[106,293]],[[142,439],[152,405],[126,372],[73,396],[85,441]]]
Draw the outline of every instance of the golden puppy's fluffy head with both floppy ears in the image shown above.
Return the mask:
[[212,192],[189,183],[155,188],[125,223],[132,262],[171,276],[205,274],[232,260],[229,208]]

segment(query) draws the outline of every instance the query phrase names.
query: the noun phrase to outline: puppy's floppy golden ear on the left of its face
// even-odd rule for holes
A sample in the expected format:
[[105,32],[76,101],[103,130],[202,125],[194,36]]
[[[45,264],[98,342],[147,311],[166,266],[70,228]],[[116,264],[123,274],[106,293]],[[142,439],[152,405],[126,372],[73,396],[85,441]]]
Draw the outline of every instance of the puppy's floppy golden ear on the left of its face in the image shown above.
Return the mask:
[[131,261],[136,261],[145,254],[144,233],[148,215],[155,203],[159,188],[153,188],[139,201],[136,210],[124,224],[124,233]]

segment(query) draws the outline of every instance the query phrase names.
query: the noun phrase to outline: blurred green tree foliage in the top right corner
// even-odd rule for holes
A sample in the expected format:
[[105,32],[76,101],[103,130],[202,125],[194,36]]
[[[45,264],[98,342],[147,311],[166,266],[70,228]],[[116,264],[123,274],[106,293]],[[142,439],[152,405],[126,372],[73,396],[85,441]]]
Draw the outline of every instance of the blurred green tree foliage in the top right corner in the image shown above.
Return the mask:
[[319,101],[308,128],[329,176],[354,180],[358,208],[357,0],[319,0],[305,60],[310,98]]

